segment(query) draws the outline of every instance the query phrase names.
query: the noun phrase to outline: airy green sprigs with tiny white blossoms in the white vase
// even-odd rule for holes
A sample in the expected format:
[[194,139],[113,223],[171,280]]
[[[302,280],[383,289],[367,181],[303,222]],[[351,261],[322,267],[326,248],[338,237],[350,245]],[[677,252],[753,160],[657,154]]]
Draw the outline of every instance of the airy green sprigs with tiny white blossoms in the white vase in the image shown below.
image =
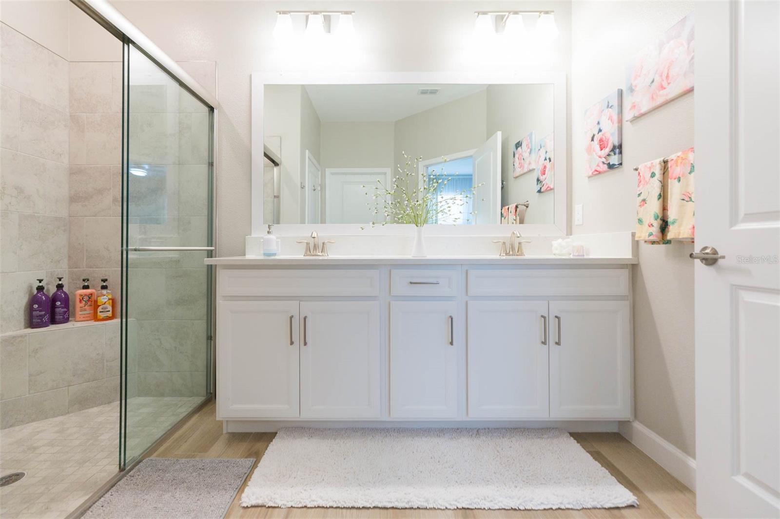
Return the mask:
[[[371,197],[367,204],[369,207],[373,206],[374,218],[381,220],[372,221],[371,227],[413,224],[421,228],[425,224],[438,221],[463,223],[463,207],[469,203],[469,199],[473,199],[474,193],[482,184],[442,195],[441,190],[457,173],[446,173],[444,168],[441,168],[439,171],[430,170],[426,175],[424,171],[420,171],[422,157],[410,157],[402,153],[406,164],[403,167],[399,164],[398,175],[392,178],[392,185],[377,181],[374,186],[362,186],[366,189],[366,196]],[[442,162],[446,161],[447,159],[442,157]],[[476,211],[468,213],[470,217],[476,214]],[[379,215],[384,218],[378,218]]]

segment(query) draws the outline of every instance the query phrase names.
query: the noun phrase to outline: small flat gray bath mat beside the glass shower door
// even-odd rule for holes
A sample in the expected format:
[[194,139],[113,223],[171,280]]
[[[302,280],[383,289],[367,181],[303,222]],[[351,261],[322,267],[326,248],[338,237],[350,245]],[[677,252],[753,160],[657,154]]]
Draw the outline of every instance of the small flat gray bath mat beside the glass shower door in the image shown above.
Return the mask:
[[201,517],[222,519],[254,459],[150,457],[114,485],[85,519]]

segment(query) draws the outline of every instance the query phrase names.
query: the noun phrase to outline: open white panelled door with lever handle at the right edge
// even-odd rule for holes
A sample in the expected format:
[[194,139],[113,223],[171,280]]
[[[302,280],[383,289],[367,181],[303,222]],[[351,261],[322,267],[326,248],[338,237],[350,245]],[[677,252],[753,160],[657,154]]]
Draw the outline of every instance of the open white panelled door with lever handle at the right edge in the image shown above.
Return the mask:
[[[780,515],[780,4],[697,2],[697,511]],[[692,260],[693,261],[693,260]]]

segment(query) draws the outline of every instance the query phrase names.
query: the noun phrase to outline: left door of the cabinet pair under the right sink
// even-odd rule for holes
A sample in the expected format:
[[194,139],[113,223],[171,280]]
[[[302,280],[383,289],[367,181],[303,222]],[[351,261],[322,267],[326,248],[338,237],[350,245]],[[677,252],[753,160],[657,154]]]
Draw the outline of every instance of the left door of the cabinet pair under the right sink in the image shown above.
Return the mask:
[[547,302],[470,301],[468,313],[469,416],[547,418]]

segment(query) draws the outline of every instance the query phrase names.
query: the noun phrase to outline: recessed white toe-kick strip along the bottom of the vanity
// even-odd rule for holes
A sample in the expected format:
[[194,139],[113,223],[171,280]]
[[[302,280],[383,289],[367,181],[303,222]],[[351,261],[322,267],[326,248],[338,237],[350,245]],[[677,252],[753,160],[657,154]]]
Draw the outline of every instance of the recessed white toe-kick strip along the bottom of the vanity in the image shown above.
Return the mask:
[[463,421],[357,421],[357,420],[225,420],[225,433],[275,433],[282,427],[557,427],[569,433],[617,433],[612,420],[463,420]]

